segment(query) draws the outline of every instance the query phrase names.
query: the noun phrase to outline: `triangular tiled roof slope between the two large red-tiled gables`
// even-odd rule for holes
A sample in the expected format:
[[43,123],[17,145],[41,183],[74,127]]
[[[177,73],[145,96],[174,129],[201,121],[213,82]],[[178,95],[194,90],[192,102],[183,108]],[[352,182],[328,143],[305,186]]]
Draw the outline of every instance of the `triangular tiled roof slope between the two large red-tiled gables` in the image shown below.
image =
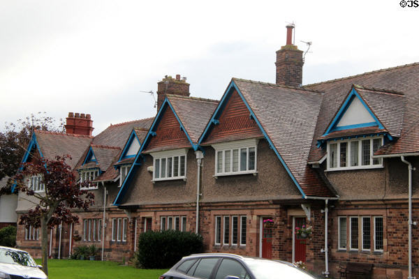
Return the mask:
[[178,95],[167,95],[193,144],[202,135],[219,101]]

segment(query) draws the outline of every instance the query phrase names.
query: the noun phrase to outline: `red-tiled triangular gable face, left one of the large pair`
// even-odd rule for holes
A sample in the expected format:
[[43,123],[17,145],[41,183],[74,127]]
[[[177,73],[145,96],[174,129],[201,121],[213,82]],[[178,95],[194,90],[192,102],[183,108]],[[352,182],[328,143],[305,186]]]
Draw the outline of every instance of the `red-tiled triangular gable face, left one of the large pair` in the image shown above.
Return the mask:
[[179,121],[169,106],[163,112],[154,133],[145,152],[191,147],[191,142],[186,137],[184,130],[181,129]]

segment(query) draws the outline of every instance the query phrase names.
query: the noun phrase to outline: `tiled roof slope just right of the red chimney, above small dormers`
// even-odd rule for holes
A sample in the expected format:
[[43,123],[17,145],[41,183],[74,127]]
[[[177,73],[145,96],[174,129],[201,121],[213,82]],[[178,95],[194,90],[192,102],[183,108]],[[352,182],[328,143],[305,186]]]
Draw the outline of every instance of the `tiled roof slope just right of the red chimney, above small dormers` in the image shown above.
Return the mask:
[[111,124],[108,128],[103,130],[102,133],[94,137],[93,144],[117,146],[122,149],[124,148],[126,139],[128,139],[133,128],[149,129],[150,126],[152,126],[153,119],[154,118],[151,117],[147,119],[129,121],[115,125]]

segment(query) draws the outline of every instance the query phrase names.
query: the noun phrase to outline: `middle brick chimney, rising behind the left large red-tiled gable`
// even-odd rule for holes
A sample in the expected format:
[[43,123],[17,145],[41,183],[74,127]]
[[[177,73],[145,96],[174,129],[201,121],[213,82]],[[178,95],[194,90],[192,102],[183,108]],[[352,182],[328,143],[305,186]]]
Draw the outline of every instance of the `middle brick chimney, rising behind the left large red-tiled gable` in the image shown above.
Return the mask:
[[186,82],[186,77],[180,78],[176,75],[176,79],[170,75],[165,76],[161,82],[157,82],[157,111],[159,112],[161,105],[163,105],[166,94],[175,94],[180,96],[189,96],[189,83]]

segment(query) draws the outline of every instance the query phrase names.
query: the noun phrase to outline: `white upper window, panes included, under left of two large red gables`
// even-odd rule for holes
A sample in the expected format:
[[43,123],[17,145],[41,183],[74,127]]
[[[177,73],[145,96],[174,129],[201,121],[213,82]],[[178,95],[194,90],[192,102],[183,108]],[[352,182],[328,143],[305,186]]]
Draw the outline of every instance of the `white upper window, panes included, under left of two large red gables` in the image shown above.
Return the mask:
[[151,153],[154,160],[153,181],[186,179],[187,149]]

